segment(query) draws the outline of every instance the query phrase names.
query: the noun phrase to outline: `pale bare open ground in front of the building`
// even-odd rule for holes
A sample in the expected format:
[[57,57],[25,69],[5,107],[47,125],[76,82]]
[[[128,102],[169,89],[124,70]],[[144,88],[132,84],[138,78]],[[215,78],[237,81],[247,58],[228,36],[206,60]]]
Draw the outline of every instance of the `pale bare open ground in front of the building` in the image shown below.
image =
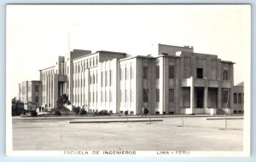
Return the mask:
[[95,119],[13,118],[13,148],[14,150],[242,151],[243,119],[229,119],[228,130],[224,130],[224,119],[207,120],[212,118],[218,117],[186,117],[183,118],[183,127],[181,117],[157,118],[163,121],[152,124],[149,122],[69,124],[68,121]]

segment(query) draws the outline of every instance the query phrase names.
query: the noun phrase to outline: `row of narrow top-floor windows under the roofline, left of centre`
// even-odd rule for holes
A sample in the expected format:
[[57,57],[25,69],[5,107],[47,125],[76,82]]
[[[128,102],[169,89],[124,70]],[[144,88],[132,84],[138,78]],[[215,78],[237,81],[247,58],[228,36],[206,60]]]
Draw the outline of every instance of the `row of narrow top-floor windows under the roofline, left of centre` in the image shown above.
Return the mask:
[[98,65],[98,56],[81,61],[81,63],[75,63],[73,66],[73,73],[83,72],[86,68],[94,67],[96,65]]

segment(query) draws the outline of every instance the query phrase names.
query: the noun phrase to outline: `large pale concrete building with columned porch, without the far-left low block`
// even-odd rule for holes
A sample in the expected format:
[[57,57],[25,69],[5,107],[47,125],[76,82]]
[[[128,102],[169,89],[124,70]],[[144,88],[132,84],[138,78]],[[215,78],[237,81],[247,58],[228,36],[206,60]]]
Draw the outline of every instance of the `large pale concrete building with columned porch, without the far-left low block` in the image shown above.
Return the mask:
[[[141,114],[236,113],[232,61],[159,44],[157,56],[74,49],[40,70],[41,106],[67,94],[73,107]],[[233,95],[234,94],[234,95]],[[236,101],[236,99],[235,99]]]

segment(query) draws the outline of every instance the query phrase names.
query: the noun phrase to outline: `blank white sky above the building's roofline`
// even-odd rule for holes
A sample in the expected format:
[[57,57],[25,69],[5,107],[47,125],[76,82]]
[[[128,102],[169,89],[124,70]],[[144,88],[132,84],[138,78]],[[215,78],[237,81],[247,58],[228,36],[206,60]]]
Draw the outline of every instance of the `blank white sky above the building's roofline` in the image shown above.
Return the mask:
[[156,55],[157,43],[189,45],[234,65],[235,84],[250,72],[248,5],[9,5],[7,91],[38,80],[58,55],[89,49]]

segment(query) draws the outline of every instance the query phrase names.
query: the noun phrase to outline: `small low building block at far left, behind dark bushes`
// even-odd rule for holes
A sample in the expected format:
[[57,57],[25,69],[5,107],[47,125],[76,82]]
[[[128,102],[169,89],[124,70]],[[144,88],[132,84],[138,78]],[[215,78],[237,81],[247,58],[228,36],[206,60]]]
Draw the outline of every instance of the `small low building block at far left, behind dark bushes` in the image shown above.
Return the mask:
[[19,101],[25,104],[28,101],[35,102],[37,107],[41,106],[41,81],[24,81],[19,84]]

